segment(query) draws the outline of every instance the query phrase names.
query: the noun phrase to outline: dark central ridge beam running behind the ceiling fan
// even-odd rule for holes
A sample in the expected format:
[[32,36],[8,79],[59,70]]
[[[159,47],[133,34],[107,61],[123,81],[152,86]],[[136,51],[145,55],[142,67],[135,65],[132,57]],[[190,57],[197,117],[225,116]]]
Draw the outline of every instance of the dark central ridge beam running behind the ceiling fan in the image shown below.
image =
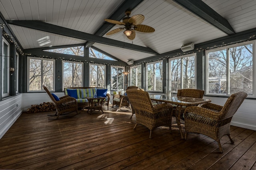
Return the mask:
[[[111,19],[111,20],[116,20],[116,21],[120,21],[122,20],[122,18],[125,17],[124,12],[126,10],[132,10],[134,9],[136,6],[138,6],[138,4],[140,4],[140,2],[142,2],[143,0],[126,0],[124,1],[119,7],[118,9],[109,17],[106,19]],[[105,33],[107,33],[112,27],[114,27],[114,24],[106,22],[106,21],[102,21],[103,24],[102,26],[94,33],[94,35],[99,35],[99,36],[103,36]],[[85,47],[91,47],[94,44],[94,42],[86,42]]]

